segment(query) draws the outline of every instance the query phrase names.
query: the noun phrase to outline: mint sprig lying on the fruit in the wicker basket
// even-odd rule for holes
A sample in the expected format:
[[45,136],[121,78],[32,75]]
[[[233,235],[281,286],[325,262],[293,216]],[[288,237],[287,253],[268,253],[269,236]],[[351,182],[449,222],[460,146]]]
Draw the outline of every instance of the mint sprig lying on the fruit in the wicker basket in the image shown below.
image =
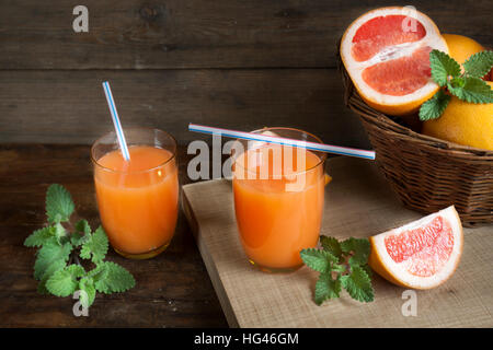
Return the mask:
[[474,104],[493,103],[493,91],[483,78],[493,67],[493,51],[486,50],[472,55],[460,65],[439,50],[429,52],[432,79],[442,88],[420,108],[420,120],[438,118],[447,108],[451,96]]

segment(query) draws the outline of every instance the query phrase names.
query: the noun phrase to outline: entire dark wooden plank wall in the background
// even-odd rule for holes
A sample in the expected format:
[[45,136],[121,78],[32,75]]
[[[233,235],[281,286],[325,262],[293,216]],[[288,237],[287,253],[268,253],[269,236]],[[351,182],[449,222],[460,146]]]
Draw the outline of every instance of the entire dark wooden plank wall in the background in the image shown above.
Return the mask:
[[[368,147],[342,103],[335,43],[359,14],[394,1],[85,0],[89,33],[72,31],[76,4],[1,1],[0,142],[91,143],[112,127],[108,79],[124,125],[183,144],[195,121],[289,125]],[[493,46],[491,1],[412,4],[444,33]]]

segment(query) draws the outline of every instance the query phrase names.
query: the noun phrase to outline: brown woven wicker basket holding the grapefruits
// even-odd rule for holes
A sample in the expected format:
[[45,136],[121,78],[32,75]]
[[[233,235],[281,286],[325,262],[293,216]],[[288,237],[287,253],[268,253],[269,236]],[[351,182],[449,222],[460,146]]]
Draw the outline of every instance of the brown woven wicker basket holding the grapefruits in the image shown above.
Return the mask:
[[[339,48],[337,48],[339,51]],[[403,205],[432,213],[455,205],[465,226],[493,222],[493,151],[414,132],[400,118],[368,106],[337,57],[344,103],[356,112],[377,163]]]

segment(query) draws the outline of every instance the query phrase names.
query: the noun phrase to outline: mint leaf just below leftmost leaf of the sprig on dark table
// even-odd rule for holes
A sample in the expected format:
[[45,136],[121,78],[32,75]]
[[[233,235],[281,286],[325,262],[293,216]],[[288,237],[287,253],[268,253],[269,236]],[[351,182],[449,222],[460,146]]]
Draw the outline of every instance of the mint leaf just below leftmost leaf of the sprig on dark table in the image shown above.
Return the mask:
[[72,245],[70,243],[59,244],[55,237],[49,238],[37,252],[37,258],[34,262],[34,278],[41,280],[50,265],[67,262]]

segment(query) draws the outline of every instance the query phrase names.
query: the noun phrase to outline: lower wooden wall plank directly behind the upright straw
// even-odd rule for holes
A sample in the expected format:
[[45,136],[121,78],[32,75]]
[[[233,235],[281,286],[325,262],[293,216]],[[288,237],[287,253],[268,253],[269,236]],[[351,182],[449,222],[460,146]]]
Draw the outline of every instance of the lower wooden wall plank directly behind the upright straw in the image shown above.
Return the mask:
[[290,126],[329,143],[369,147],[333,69],[0,71],[0,142],[94,142],[113,128],[103,80],[124,126],[161,128],[182,144],[210,140],[187,130],[196,122]]

